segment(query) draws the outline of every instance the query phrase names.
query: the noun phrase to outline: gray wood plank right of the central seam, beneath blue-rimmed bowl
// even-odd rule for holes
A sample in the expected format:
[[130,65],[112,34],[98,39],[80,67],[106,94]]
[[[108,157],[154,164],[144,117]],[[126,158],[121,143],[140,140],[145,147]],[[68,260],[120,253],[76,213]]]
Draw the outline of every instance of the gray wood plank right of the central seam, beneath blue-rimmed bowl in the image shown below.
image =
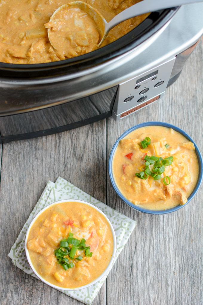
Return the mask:
[[[145,121],[165,121],[183,128],[203,150],[203,43],[186,63],[165,97],[124,120],[108,119],[108,152],[129,127]],[[121,201],[110,179],[107,203],[135,219],[137,227],[107,278],[107,304],[203,303],[203,188],[181,210],[166,215],[136,212]]]

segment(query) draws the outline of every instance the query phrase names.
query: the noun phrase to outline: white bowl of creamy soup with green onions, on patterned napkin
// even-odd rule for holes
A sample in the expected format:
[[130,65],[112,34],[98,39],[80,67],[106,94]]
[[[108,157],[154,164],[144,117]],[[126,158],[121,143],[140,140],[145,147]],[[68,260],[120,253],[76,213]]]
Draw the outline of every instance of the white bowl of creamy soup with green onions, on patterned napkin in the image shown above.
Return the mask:
[[96,206],[61,200],[40,211],[25,240],[33,272],[61,290],[87,288],[109,272],[116,252],[114,228]]

